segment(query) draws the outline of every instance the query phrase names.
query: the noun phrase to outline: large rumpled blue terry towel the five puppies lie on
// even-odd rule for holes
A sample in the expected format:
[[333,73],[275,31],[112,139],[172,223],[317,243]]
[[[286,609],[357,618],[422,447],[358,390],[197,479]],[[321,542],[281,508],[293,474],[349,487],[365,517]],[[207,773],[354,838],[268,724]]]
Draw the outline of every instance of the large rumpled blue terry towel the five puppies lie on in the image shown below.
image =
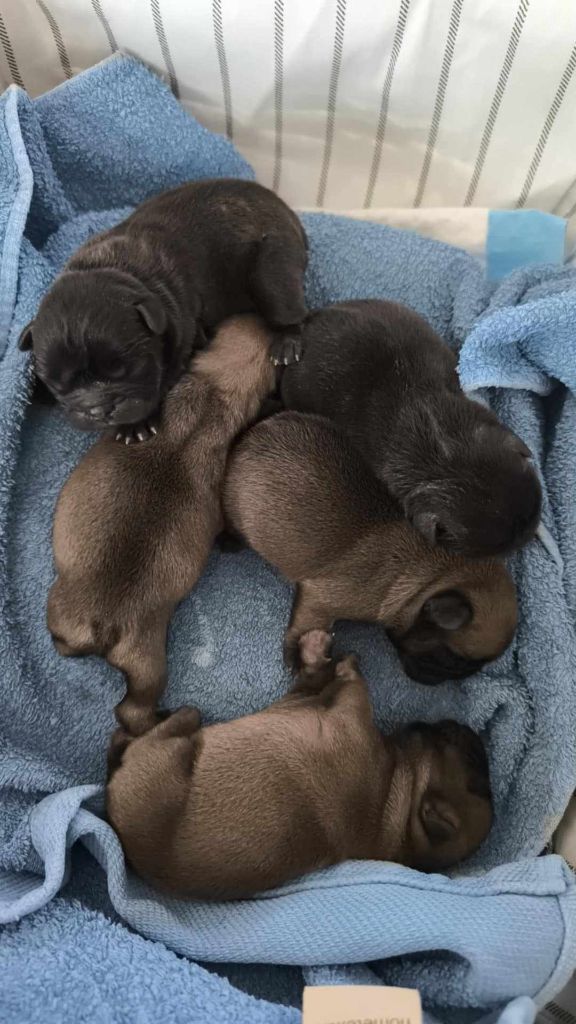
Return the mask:
[[[304,967],[311,982],[364,978],[360,965],[371,962],[371,977],[417,985],[440,1017],[523,994],[543,1001],[576,963],[570,873],[557,857],[521,859],[541,851],[576,786],[576,274],[531,268],[494,290],[456,249],[304,218],[311,305],[381,296],[417,309],[462,346],[464,386],[489,389],[485,397],[531,445],[542,474],[545,530],[511,566],[521,623],[499,662],[433,690],[403,676],[379,630],[338,632],[340,647],[361,657],[383,727],[453,717],[484,731],[496,822],[457,879],[346,864],[261,899],[183,904],[126,873],[99,816],[122,680],[98,659],[59,658],[44,617],[54,502],[89,440],[57,411],[27,407],[16,339],[93,231],[184,179],[251,170],[125,57],[34,102],[10,89],[0,101],[0,921],[18,921],[58,891],[67,851],[82,838],[122,919],[194,959]],[[289,683],[280,654],[289,605],[287,585],[253,554],[214,553],[174,615],[168,705],[194,702],[213,721],[280,696]],[[6,934],[12,942],[30,931]],[[10,948],[0,939],[0,953]],[[23,939],[16,963],[25,948]],[[24,967],[22,978],[25,986]]]

